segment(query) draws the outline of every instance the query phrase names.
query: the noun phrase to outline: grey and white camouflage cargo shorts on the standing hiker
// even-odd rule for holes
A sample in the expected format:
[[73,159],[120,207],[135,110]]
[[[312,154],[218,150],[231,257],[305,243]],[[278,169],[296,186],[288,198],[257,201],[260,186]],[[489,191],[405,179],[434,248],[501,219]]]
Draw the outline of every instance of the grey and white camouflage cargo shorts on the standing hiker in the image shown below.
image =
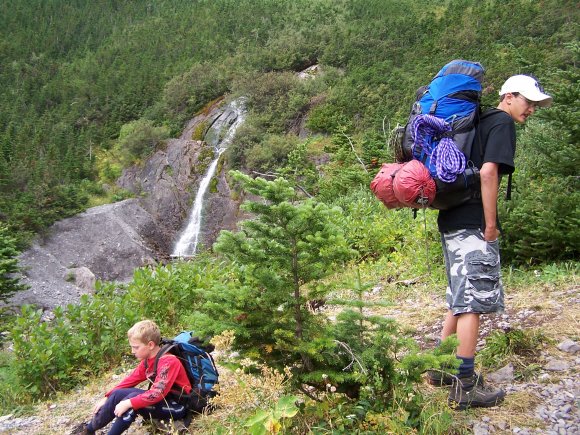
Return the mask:
[[480,230],[441,233],[447,272],[447,307],[454,315],[504,310],[499,241],[486,242]]

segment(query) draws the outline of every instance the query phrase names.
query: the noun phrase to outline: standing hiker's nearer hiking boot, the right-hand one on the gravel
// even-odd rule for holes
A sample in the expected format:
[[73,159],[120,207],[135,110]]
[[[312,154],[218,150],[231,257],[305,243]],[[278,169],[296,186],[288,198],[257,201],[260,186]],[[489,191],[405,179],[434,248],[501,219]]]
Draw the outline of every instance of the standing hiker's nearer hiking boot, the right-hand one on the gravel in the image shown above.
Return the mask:
[[488,385],[478,385],[476,375],[468,378],[457,377],[449,392],[449,406],[454,409],[489,408],[503,402],[505,391]]

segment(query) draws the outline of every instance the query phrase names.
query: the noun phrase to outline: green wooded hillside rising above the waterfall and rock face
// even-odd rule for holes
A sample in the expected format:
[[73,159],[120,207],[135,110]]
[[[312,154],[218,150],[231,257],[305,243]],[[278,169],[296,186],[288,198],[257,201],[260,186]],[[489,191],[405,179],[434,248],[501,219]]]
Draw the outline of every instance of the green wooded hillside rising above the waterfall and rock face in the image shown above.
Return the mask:
[[[391,125],[404,121],[414,90],[453,58],[487,68],[488,104],[502,81],[520,72],[541,77],[552,92],[577,95],[575,6],[573,1],[2,2],[3,220],[25,240],[78,212],[89,195],[102,193],[101,184],[111,181],[107,177],[118,174],[118,166],[103,162],[100,152],[115,146],[124,124],[144,119],[176,134],[195,111],[224,93],[249,93],[253,108],[262,112],[247,146],[264,145],[266,133],[282,134],[309,99],[319,96],[324,102],[311,113],[311,128],[364,137],[377,154],[384,151],[383,119]],[[326,71],[315,85],[299,85],[285,75],[314,63]],[[261,85],[252,87],[256,82]],[[572,115],[577,101],[570,102],[574,107],[562,110]],[[577,132],[571,134],[557,140],[577,143]],[[133,151],[140,155],[129,161],[151,149]]]

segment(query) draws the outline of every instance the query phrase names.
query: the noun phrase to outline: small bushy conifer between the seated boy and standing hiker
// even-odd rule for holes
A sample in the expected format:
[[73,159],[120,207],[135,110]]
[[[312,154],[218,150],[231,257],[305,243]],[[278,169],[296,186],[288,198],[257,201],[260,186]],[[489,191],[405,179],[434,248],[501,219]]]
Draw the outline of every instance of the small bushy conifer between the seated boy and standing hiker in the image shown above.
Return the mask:
[[257,350],[274,366],[299,363],[312,371],[328,337],[324,318],[308,309],[308,301],[326,296],[319,280],[351,254],[339,224],[340,209],[303,200],[283,178],[232,176],[262,198],[244,203],[255,217],[237,233],[222,231],[214,245],[240,265],[243,298],[229,302],[238,311],[245,307],[237,316],[238,345]]

